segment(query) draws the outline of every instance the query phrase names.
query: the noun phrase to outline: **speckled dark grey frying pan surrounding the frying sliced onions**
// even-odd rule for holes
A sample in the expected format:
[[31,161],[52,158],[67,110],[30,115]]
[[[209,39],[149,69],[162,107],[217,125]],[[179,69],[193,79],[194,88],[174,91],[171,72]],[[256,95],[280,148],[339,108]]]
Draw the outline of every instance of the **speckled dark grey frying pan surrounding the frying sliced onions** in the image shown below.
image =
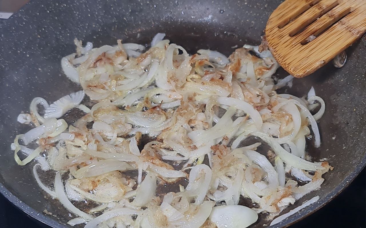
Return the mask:
[[[34,180],[32,164],[21,167],[14,161],[10,143],[16,134],[29,130],[16,122],[28,111],[34,97],[55,101],[80,88],[61,71],[61,57],[75,50],[75,37],[93,42],[95,47],[124,42],[149,44],[158,32],[188,52],[213,49],[229,55],[234,45],[258,45],[270,13],[278,0],[94,0],[74,2],[32,1],[16,12],[0,28],[0,191],[31,217],[51,227],[67,227],[72,215],[59,202],[45,197]],[[366,162],[365,37],[347,49],[346,66],[331,64],[313,75],[295,79],[287,93],[304,96],[314,86],[326,103],[319,122],[322,145],[307,143],[314,160],[328,158],[335,167],[324,175],[320,190],[306,195],[284,212],[303,201],[320,196],[317,203],[287,218],[275,227],[286,227],[318,210],[340,193]],[[278,70],[276,77],[287,73]],[[48,178],[49,183],[53,177]],[[51,214],[43,213],[44,210]],[[262,227],[258,220],[253,227]],[[268,223],[266,223],[268,224]]]

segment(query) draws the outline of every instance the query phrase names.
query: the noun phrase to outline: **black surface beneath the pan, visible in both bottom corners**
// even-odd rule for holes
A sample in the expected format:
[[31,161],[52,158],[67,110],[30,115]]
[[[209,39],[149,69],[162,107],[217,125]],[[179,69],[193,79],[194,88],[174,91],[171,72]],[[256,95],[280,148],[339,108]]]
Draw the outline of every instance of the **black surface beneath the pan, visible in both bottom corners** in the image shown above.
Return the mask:
[[[324,208],[292,225],[290,228],[303,227],[366,227],[366,169],[335,199]],[[38,228],[48,227],[28,217],[0,194],[0,227]]]

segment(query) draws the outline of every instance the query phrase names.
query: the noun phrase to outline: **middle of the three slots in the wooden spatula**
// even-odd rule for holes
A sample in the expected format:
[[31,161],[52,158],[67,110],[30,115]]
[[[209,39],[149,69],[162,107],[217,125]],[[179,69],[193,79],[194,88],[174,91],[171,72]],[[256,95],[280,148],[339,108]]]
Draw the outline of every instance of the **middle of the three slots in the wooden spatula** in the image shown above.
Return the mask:
[[[332,10],[334,7],[336,7],[338,5],[338,1],[334,1],[333,3],[330,4],[323,4],[322,1],[320,1],[318,4],[314,5],[310,10],[313,10],[314,12],[307,17],[300,26],[295,27],[291,32],[290,32],[290,37],[293,37],[299,33],[301,33],[302,31],[304,31],[306,29],[307,26],[311,25],[311,23],[313,23],[315,20],[317,20],[318,18],[320,18],[321,16],[323,16],[324,14],[326,14],[327,12],[329,12],[330,10]],[[298,18],[300,19],[300,18]]]

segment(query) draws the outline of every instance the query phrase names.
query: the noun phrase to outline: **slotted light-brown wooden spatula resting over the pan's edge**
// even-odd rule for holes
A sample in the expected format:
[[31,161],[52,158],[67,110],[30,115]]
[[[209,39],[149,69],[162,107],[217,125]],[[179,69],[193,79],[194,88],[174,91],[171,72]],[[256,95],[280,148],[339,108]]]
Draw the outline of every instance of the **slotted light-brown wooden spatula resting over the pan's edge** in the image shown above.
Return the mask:
[[285,0],[266,25],[275,59],[302,78],[324,66],[366,31],[366,0]]

